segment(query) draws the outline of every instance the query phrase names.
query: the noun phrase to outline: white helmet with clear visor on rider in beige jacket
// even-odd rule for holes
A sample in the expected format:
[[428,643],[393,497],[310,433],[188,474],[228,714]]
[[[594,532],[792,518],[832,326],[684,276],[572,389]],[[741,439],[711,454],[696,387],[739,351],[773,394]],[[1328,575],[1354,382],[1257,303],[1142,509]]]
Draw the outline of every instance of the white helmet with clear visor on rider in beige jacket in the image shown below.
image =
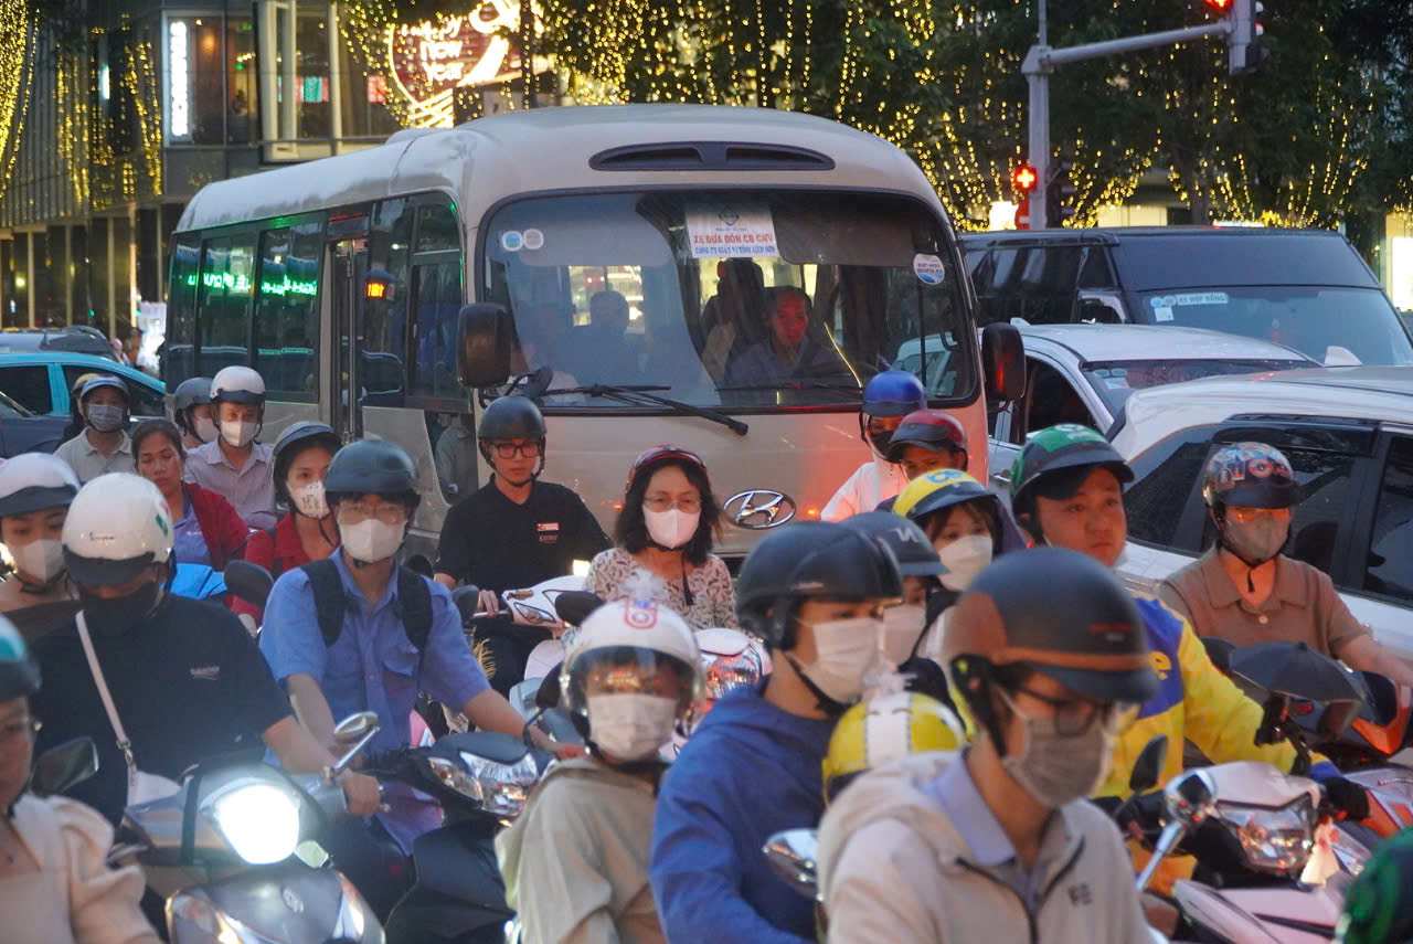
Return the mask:
[[613,601],[584,620],[560,670],[565,708],[588,711],[585,678],[591,668],[605,663],[633,668],[643,677],[671,666],[681,680],[678,714],[699,697],[701,650],[691,626],[651,599]]

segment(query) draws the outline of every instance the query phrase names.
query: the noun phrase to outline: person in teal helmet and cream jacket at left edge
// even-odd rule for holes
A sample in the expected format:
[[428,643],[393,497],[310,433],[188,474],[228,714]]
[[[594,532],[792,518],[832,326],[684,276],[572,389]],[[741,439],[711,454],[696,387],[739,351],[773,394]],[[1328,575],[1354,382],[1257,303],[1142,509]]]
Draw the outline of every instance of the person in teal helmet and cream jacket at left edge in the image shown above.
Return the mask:
[[[49,458],[49,456],[45,456]],[[113,827],[82,803],[30,793],[40,667],[0,616],[0,914],[7,944],[157,944],[143,873],[110,869]]]

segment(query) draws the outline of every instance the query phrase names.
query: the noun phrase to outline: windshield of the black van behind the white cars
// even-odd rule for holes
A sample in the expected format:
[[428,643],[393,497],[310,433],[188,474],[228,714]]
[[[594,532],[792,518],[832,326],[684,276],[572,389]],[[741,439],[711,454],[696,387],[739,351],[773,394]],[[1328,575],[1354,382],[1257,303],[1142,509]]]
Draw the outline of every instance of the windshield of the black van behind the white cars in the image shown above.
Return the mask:
[[1166,288],[1139,298],[1137,321],[1147,324],[1273,341],[1331,366],[1413,363],[1413,343],[1376,288]]

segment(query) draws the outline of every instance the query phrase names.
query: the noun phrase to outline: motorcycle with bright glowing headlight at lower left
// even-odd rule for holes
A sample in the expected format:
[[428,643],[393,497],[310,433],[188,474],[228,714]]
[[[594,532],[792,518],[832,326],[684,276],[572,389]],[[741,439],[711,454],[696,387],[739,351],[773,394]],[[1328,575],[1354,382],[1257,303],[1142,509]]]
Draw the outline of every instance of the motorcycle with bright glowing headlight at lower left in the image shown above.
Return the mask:
[[383,928],[318,837],[348,813],[336,783],[377,733],[360,712],[335,729],[352,748],[318,774],[208,762],[167,797],[130,806],[109,852],[165,900],[172,944],[380,944]]

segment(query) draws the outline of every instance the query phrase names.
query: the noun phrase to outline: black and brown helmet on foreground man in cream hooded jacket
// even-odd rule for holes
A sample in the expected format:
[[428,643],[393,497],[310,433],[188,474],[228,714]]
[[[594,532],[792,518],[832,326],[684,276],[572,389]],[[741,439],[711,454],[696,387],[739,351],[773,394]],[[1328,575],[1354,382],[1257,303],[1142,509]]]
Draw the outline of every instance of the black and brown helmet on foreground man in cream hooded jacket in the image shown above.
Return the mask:
[[1057,547],[996,558],[951,610],[942,664],[985,718],[978,660],[1024,664],[1104,702],[1142,704],[1157,691],[1133,598],[1106,567]]

